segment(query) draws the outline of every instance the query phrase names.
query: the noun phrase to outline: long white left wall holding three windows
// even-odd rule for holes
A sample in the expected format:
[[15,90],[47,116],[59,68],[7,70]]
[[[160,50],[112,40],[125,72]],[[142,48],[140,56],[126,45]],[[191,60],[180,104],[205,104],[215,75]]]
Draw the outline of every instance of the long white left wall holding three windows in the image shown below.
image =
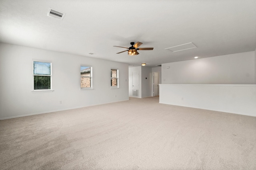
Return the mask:
[[[52,62],[54,92],[32,92],[32,59]],[[93,90],[80,90],[80,64],[92,65]],[[110,88],[110,68],[120,88]],[[0,119],[129,100],[128,64],[79,55],[0,43],[0,78]]]

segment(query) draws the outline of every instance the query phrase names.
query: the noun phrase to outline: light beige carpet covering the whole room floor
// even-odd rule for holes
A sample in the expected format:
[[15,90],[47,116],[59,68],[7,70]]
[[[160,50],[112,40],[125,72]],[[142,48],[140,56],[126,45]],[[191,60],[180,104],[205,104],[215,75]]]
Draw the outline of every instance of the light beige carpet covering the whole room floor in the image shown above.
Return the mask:
[[158,102],[1,120],[0,169],[256,169],[256,117]]

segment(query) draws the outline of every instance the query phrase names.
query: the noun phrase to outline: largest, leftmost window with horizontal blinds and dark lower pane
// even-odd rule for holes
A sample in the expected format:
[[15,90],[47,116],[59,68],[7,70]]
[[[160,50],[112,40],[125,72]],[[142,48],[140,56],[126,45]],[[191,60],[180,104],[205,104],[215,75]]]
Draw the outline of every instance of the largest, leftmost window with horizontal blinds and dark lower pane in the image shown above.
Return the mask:
[[34,90],[52,89],[52,63],[33,61]]

